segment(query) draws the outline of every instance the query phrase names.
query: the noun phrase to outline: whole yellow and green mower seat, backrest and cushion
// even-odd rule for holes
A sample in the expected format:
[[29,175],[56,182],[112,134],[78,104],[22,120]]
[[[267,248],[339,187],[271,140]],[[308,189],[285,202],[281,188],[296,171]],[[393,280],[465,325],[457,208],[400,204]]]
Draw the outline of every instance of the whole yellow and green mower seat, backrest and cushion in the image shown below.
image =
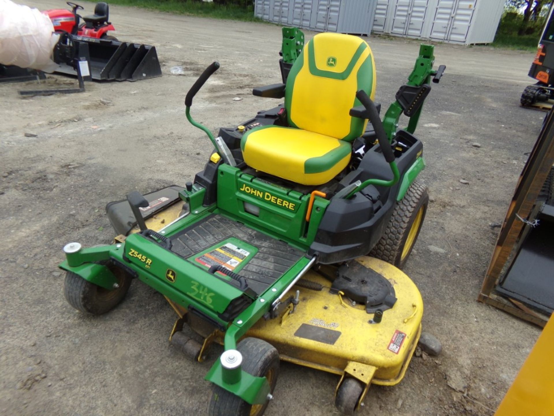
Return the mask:
[[250,167],[302,185],[321,185],[346,168],[352,141],[367,120],[350,116],[356,92],[375,96],[370,46],[356,36],[320,33],[306,44],[290,70],[285,110],[290,127],[260,126],[240,142]]

